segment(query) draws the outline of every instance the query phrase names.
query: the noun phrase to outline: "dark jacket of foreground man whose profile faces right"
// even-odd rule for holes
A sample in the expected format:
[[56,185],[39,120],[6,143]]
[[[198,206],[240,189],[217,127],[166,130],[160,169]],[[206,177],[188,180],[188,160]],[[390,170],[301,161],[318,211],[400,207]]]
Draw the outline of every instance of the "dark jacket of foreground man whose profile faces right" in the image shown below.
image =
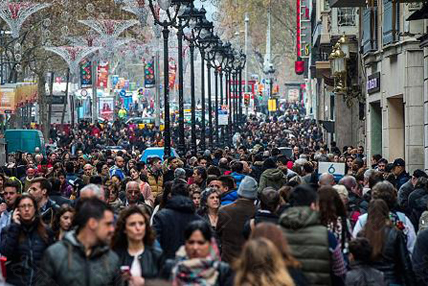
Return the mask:
[[119,258],[107,245],[93,248],[87,256],[75,232],[70,231],[46,250],[38,281],[42,286],[123,285],[119,267]]

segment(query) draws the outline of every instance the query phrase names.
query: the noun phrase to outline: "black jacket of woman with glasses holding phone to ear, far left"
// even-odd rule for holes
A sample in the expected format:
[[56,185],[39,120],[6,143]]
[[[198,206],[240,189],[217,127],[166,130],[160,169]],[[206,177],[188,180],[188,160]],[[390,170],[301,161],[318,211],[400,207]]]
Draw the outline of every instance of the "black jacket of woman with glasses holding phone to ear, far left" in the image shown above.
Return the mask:
[[[53,243],[53,232],[47,229],[48,239],[37,232],[37,223],[11,223],[1,231],[1,255],[6,256],[6,282],[11,285],[36,285],[43,252]],[[20,235],[22,239],[20,238]]]

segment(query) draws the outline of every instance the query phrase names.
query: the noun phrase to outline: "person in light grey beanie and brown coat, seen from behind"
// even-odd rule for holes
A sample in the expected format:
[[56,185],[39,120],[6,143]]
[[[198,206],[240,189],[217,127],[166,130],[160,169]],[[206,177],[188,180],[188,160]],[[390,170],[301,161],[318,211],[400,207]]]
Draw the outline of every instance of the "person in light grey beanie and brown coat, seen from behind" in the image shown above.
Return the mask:
[[250,176],[242,179],[237,190],[237,200],[220,208],[216,231],[222,245],[221,258],[231,263],[240,255],[245,243],[243,230],[245,222],[255,216],[254,204],[257,198],[257,181]]

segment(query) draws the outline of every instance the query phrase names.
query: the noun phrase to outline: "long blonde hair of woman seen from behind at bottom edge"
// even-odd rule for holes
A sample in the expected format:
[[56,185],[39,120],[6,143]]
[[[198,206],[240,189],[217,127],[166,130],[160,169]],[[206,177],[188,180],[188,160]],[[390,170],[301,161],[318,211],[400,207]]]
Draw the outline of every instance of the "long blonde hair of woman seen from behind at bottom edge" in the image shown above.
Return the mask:
[[235,271],[235,286],[294,286],[282,255],[267,238],[247,241]]

